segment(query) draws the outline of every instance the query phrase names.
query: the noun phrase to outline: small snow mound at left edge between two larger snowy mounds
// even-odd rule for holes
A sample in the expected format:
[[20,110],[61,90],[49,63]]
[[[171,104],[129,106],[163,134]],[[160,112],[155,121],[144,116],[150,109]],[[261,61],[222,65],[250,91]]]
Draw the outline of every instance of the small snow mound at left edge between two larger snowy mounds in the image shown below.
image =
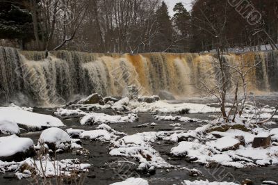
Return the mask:
[[20,130],[16,122],[0,118],[0,134],[19,134]]

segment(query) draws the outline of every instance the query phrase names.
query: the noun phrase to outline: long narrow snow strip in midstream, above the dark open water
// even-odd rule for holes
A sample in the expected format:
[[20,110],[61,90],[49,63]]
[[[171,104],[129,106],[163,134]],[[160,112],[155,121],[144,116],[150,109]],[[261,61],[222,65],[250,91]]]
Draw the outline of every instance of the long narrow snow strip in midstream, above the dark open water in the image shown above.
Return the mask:
[[121,115],[107,115],[105,113],[88,113],[81,119],[81,124],[109,124],[117,122],[136,122],[138,116],[136,114]]

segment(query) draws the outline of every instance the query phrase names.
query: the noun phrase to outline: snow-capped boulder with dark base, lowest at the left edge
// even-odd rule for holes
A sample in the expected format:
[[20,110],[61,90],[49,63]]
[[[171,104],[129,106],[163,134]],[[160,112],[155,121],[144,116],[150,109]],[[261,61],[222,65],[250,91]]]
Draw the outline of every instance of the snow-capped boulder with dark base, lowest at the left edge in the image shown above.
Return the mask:
[[1,161],[23,161],[27,157],[35,156],[34,143],[31,138],[6,136],[0,138]]

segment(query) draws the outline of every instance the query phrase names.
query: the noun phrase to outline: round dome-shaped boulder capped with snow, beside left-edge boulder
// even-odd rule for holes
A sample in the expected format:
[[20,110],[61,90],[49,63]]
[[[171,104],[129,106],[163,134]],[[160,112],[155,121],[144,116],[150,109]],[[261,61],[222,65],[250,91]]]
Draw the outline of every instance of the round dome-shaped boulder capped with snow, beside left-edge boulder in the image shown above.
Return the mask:
[[59,150],[59,152],[66,152],[70,150],[71,147],[71,140],[69,134],[67,134],[67,132],[63,131],[62,129],[58,129],[56,127],[42,131],[42,134],[40,134],[38,145],[40,143],[45,143],[47,144],[50,150]]

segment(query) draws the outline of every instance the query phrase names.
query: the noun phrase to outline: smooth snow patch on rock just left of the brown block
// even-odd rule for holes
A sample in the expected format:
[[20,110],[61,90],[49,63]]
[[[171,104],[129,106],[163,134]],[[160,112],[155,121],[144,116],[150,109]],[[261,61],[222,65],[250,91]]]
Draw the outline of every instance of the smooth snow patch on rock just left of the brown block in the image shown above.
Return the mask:
[[224,151],[228,149],[231,150],[231,147],[234,147],[234,145],[239,145],[239,141],[235,138],[227,136],[208,142],[206,145],[210,145],[211,147],[215,147],[217,150]]

